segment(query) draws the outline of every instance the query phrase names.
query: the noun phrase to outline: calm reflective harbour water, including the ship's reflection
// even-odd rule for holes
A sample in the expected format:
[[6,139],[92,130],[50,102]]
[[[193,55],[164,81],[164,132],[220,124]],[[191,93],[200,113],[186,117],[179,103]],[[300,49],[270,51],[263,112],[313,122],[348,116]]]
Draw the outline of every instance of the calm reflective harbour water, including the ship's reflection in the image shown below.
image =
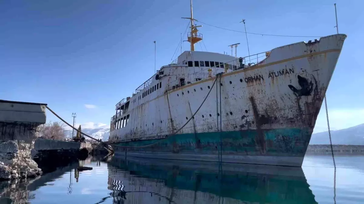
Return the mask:
[[335,200],[331,155],[306,155],[302,168],[124,159],[1,182],[0,203],[364,203],[363,155],[335,157]]

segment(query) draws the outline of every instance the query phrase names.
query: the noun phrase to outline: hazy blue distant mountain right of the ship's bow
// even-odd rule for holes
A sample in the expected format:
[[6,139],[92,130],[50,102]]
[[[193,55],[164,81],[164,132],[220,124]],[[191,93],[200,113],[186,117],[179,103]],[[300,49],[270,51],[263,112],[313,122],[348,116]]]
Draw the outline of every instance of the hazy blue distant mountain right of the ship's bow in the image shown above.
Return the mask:
[[[330,133],[332,144],[364,145],[364,123]],[[312,134],[310,144],[330,144],[328,131]]]

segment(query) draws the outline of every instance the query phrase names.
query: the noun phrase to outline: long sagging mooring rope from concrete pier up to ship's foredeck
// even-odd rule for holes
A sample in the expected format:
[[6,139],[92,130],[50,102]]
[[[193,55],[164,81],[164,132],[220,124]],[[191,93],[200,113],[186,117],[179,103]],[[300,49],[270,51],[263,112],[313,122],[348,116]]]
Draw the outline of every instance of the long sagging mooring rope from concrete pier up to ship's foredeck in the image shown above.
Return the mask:
[[[222,73],[220,73],[220,75],[221,75]],[[88,138],[91,138],[91,139],[94,139],[94,140],[96,140],[96,141],[98,141],[98,142],[100,142],[100,143],[104,143],[104,144],[109,144],[109,145],[111,145],[111,146],[114,146],[114,147],[122,147],[122,148],[145,148],[145,147],[150,147],[150,146],[153,146],[153,145],[155,145],[155,144],[158,144],[158,143],[160,143],[160,142],[162,142],[162,141],[165,141],[165,140],[167,140],[167,139],[169,139],[171,136],[173,136],[173,135],[175,135],[175,134],[177,134],[177,132],[179,132],[179,131],[181,131],[182,130],[182,128],[183,127],[185,127],[190,121],[191,121],[191,119],[193,119],[194,118],[194,116],[197,114],[197,112],[200,110],[200,108],[202,107],[202,105],[203,105],[203,103],[205,103],[205,101],[206,101],[206,99],[207,99],[207,97],[209,96],[209,94],[210,94],[210,92],[211,92],[211,90],[212,90],[212,88],[214,87],[214,85],[215,85],[215,83],[216,83],[216,81],[217,81],[217,77],[218,77],[218,75],[216,76],[216,78],[215,78],[215,81],[214,81],[214,83],[213,83],[213,85],[211,86],[211,89],[209,90],[209,92],[207,93],[207,95],[206,95],[206,97],[205,97],[205,99],[203,99],[203,101],[202,101],[202,103],[201,103],[201,105],[198,107],[198,109],[196,110],[196,112],[192,115],[192,117],[185,123],[185,125],[183,125],[181,128],[179,128],[177,131],[175,131],[173,134],[170,134],[169,136],[167,136],[165,139],[161,139],[161,140],[159,140],[159,141],[157,141],[157,142],[155,142],[155,143],[152,143],[152,144],[147,144],[147,145],[144,145],[144,146],[120,146],[120,145],[115,145],[115,144],[110,144],[110,143],[106,143],[106,142],[100,142],[98,139],[95,139],[95,138],[93,138],[93,137],[91,137],[90,135],[87,135],[86,133],[84,133],[84,132],[82,132],[82,131],[79,131],[77,128],[75,128],[75,127],[73,127],[70,123],[67,123],[64,119],[62,119],[59,115],[57,115],[52,109],[50,109],[50,107],[48,107],[48,106],[46,106],[46,108],[49,110],[49,111],[51,111],[51,113],[53,113],[57,118],[59,118],[61,121],[63,121],[64,123],[66,123],[68,126],[70,126],[70,127],[72,127],[74,130],[76,130],[77,132],[80,132],[81,134],[83,134],[83,135],[85,135],[85,136],[87,136]],[[220,79],[220,81],[221,81],[221,79]]]

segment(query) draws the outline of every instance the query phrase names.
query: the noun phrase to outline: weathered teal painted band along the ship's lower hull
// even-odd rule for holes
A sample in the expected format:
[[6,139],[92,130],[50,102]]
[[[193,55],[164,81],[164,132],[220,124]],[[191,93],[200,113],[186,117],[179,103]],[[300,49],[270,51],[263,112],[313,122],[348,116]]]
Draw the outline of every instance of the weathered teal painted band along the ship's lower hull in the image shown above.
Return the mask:
[[[262,130],[264,139],[259,139],[256,130],[228,132],[188,133],[166,139],[139,140],[115,143],[120,146],[138,147],[159,143],[145,148],[130,148],[129,152],[165,152],[183,154],[217,154],[222,139],[224,155],[304,156],[311,134],[308,129],[282,128]],[[115,147],[116,151],[126,148]]]

